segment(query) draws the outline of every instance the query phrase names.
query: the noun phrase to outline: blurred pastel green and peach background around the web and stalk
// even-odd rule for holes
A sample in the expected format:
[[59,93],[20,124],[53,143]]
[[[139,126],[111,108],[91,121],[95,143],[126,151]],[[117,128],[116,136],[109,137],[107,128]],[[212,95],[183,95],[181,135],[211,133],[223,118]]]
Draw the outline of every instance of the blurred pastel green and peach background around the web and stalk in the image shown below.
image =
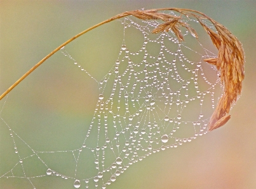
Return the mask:
[[[256,188],[256,1],[0,1],[0,93],[84,29],[124,11],[166,7],[201,11],[238,37],[246,54],[243,93],[225,126],[177,149],[150,155],[108,188]],[[102,26],[67,50],[99,80],[118,56],[123,35],[116,32],[122,34],[121,30]],[[97,96],[95,83],[55,54],[10,93],[1,118],[32,149],[74,149],[83,142]],[[18,161],[4,121],[0,120],[1,176]],[[27,146],[19,148],[30,153]],[[72,168],[74,159],[67,161]],[[31,174],[41,168],[36,159],[25,167],[34,171]],[[34,180],[36,188],[73,188],[73,182]],[[0,188],[32,185],[24,179],[0,178]]]

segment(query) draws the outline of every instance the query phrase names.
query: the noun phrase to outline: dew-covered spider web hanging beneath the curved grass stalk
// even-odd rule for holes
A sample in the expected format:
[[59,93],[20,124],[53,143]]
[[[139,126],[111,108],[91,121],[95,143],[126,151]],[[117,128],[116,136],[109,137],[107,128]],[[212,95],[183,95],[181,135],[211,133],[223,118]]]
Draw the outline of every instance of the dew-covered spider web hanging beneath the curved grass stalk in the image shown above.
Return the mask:
[[[183,21],[197,24],[186,17]],[[16,131],[22,123],[4,118],[3,106],[1,130],[6,133],[8,129],[6,146],[14,147],[11,156],[16,162],[1,172],[0,180],[8,178],[18,185],[29,182],[30,188],[44,188],[54,180],[69,180],[67,188],[106,188],[147,156],[207,133],[224,86],[215,66],[203,59],[216,55],[185,29],[185,42],[180,43],[172,31],[151,34],[159,25],[156,20],[128,16],[119,23],[123,25],[123,43],[116,62],[101,80],[86,71],[66,47],[58,52],[76,70],[90,76],[98,88],[92,119],[79,137],[81,144],[36,150],[26,142],[29,136],[21,137]],[[213,28],[208,21],[205,24]],[[142,40],[142,45],[135,47],[133,40]],[[4,104],[8,104],[8,97]],[[42,119],[50,118],[46,115]],[[69,131],[65,134],[68,136]]]

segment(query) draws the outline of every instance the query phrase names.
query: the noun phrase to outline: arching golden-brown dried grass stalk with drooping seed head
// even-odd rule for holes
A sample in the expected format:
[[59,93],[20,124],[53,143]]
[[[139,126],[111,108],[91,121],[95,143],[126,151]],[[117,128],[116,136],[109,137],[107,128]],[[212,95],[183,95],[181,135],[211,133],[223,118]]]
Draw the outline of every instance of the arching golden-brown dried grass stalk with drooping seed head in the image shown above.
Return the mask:
[[[161,13],[163,10],[177,11],[180,13],[180,16],[168,15],[166,13]],[[108,23],[112,20],[116,20],[125,16],[135,16],[141,20],[162,20],[164,23],[159,24],[158,27],[152,30],[153,34],[157,34],[159,32],[168,32],[172,30],[172,32],[177,36],[180,42],[184,40],[184,37],[180,31],[180,27],[187,28],[187,30],[198,39],[198,34],[194,28],[191,28],[187,23],[182,21],[182,15],[196,18],[201,26],[205,29],[206,33],[212,39],[212,42],[215,47],[219,50],[217,58],[209,58],[205,59],[207,63],[213,64],[220,71],[220,79],[222,84],[224,85],[224,95],[222,95],[219,104],[217,105],[215,111],[213,112],[209,124],[208,130],[212,131],[215,128],[219,128],[220,126],[227,123],[227,121],[231,118],[229,115],[229,111],[231,106],[238,99],[238,95],[241,94],[242,90],[242,81],[245,77],[244,73],[244,64],[245,64],[245,54],[243,52],[243,47],[241,42],[227,30],[226,27],[213,20],[212,18],[206,16],[205,14],[194,11],[192,9],[180,9],[180,8],[162,8],[162,9],[149,9],[149,10],[135,10],[135,11],[126,11],[125,13],[121,13],[116,15],[108,20],[102,21],[97,25],[84,30],[80,34],[72,37],[67,40],[61,46],[57,47],[54,51],[48,54],[44,59],[39,61],[33,68],[31,68],[24,76],[22,76],[17,82],[11,85],[6,92],[4,92],[0,96],[0,100],[8,94],[14,87],[18,85],[26,76],[28,76],[32,71],[34,71],[40,64],[42,64],[46,59],[50,58],[51,55],[55,54],[58,50],[60,50],[65,45],[69,44],[72,40],[77,37],[93,30],[93,28],[97,28],[100,25]],[[213,30],[207,27],[202,20],[210,20],[215,26],[217,33],[213,32]]]

